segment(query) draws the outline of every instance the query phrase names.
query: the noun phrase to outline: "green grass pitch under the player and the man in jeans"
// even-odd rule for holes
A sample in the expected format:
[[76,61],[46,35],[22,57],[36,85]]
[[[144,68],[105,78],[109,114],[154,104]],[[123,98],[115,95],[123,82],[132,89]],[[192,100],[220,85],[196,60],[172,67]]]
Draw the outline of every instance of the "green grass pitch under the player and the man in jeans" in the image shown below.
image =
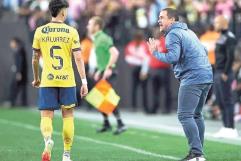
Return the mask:
[[[43,141],[40,116],[34,110],[0,107],[0,161],[40,161]],[[75,119],[73,161],[171,161],[187,154],[186,139],[129,128],[120,136],[96,134],[97,122]],[[61,117],[54,118],[55,141],[52,160],[61,161],[63,142]],[[205,142],[208,161],[241,161],[241,147],[213,141]]]

